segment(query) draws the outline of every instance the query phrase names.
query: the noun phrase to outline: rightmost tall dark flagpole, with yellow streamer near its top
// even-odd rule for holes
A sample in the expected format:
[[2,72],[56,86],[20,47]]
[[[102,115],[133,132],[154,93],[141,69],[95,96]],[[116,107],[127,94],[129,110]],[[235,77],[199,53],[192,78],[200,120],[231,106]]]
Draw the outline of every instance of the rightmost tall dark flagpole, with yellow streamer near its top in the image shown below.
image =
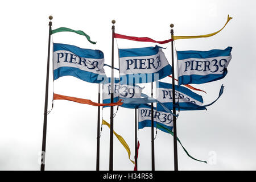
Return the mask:
[[[170,24],[171,27],[171,36],[174,39],[174,24]],[[172,112],[176,115],[175,107],[175,78],[174,78],[174,40],[172,41]],[[174,116],[174,171],[178,171],[178,162],[177,162],[177,131],[176,131],[176,117]]]

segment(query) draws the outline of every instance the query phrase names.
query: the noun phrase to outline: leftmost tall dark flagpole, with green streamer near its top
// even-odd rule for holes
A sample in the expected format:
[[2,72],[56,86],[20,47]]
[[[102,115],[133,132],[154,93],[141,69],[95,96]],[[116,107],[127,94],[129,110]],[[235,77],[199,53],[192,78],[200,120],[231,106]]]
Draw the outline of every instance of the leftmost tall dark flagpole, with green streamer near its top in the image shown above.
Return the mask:
[[48,111],[48,88],[49,88],[49,55],[51,48],[51,31],[52,31],[52,16],[49,16],[49,39],[48,39],[48,57],[46,68],[46,97],[44,100],[44,126],[43,126],[43,142],[42,142],[42,158],[41,158],[41,171],[44,171],[44,163],[46,159],[46,130],[47,130],[47,111]]

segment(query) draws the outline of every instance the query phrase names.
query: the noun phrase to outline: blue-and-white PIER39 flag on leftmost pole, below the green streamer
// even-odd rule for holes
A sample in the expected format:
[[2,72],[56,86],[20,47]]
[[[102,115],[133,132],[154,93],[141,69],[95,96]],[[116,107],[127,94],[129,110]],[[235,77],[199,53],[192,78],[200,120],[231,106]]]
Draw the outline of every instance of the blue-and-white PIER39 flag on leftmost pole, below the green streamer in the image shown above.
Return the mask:
[[106,77],[104,53],[100,50],[53,43],[53,80],[74,76],[81,80],[100,83]]

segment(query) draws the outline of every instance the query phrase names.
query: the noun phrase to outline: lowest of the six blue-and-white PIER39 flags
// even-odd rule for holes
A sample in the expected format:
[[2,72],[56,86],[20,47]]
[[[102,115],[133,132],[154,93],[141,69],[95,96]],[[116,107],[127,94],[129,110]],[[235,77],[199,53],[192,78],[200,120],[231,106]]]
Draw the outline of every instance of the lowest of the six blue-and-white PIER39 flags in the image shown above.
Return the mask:
[[[142,104],[138,108],[138,115],[139,115],[139,129],[143,129],[144,127],[151,127],[151,105]],[[156,123],[158,125],[164,126],[165,128],[172,131],[173,119],[174,116],[166,111],[159,110],[154,107],[154,127],[156,127]],[[168,131],[164,130],[162,127],[158,127],[160,130],[169,133]]]

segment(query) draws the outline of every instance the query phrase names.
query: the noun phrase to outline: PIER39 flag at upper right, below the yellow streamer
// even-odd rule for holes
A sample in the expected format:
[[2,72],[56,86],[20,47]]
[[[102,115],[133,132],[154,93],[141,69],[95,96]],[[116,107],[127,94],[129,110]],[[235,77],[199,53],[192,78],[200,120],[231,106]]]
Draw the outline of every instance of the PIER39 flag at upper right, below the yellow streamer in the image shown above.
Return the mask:
[[232,58],[231,51],[232,47],[224,50],[177,51],[179,85],[203,84],[224,78]]

